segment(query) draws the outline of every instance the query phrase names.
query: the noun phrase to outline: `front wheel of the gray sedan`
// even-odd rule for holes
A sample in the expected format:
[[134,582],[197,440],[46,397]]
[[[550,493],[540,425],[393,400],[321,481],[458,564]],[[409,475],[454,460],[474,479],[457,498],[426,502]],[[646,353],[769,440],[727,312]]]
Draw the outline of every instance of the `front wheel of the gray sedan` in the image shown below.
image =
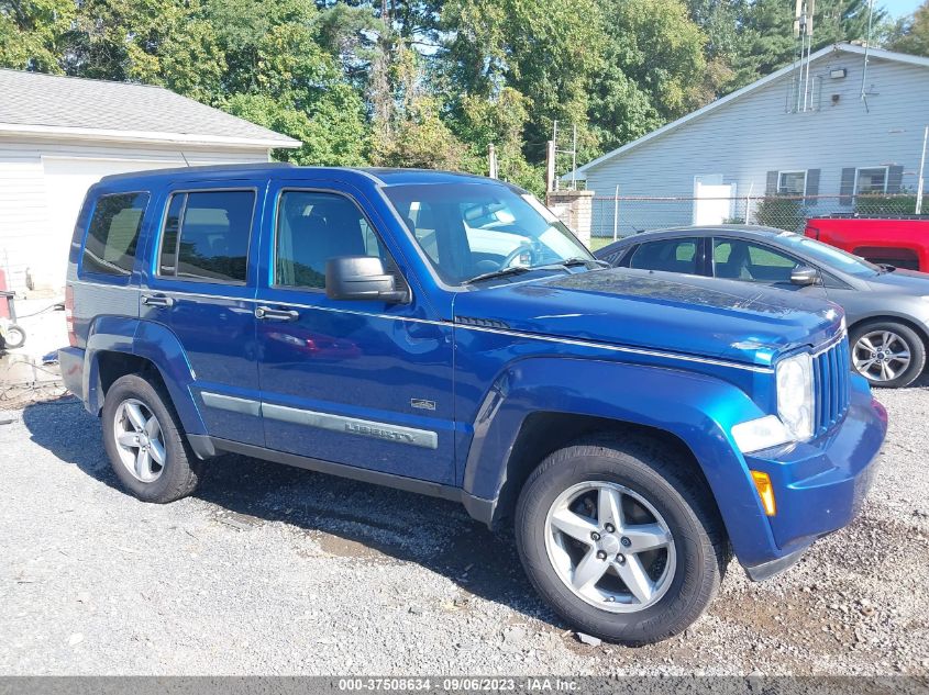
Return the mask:
[[896,321],[871,321],[849,337],[852,368],[872,386],[908,386],[926,368],[926,345],[909,326]]

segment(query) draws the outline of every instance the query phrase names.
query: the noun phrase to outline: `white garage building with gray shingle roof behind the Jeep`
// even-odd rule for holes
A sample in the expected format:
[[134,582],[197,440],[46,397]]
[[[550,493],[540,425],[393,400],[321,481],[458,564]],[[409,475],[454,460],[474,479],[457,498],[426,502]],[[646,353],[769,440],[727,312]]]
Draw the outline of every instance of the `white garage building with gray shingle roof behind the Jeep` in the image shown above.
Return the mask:
[[0,268],[64,285],[87,189],[108,173],[267,161],[300,143],[161,87],[0,70]]

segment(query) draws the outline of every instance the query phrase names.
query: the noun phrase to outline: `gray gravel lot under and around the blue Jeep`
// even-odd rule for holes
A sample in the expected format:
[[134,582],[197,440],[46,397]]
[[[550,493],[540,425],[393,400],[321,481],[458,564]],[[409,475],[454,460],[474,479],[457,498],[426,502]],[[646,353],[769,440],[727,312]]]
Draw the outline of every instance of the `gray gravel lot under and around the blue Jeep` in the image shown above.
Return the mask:
[[230,457],[147,505],[78,403],[0,412],[0,674],[925,675],[929,379],[878,396],[860,519],[641,649],[578,643],[454,504]]

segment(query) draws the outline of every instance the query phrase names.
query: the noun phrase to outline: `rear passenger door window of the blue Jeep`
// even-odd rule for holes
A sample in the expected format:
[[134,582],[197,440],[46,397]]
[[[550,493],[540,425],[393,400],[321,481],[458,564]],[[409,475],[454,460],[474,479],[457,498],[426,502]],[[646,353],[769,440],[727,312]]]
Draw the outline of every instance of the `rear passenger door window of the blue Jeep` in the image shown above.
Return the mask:
[[244,284],[255,191],[175,193],[168,203],[158,274]]

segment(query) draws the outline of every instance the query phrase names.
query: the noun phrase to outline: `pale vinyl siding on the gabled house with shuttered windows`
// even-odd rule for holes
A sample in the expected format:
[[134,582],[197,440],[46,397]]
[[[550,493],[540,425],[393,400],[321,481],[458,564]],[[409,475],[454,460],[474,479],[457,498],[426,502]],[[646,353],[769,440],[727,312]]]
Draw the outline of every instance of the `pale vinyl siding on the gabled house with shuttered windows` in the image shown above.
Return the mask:
[[[837,68],[847,77],[830,79]],[[862,70],[860,55],[826,55],[810,70],[821,78],[818,111],[786,112],[792,72],[593,167],[587,188],[598,195],[613,195],[619,186],[621,197],[690,197],[694,177],[722,175],[737,195],[764,195],[768,171],[819,169],[819,194],[838,195],[843,168],[900,165],[902,186],[915,190],[929,69],[872,57],[866,108]]]

